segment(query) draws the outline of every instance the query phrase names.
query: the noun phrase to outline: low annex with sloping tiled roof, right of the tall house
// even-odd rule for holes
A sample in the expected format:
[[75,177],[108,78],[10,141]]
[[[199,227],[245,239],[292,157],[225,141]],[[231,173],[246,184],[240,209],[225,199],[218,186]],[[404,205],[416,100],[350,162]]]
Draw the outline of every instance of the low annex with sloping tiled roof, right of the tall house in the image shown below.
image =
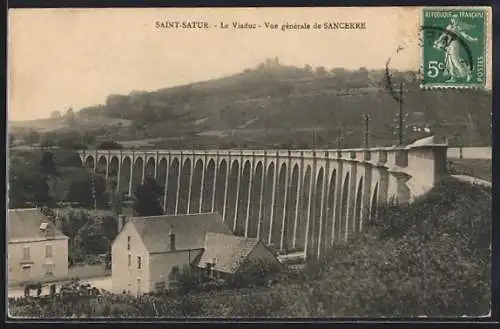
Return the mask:
[[210,277],[226,279],[236,274],[245,263],[259,262],[281,266],[273,252],[258,239],[208,232],[197,266],[205,269]]

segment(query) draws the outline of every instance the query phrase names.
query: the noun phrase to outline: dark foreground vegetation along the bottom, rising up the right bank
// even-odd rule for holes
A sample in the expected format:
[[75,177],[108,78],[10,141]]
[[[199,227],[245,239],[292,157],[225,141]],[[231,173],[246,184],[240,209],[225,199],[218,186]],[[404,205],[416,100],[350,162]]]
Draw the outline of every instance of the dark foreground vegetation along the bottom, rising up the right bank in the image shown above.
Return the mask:
[[271,287],[180,297],[109,295],[99,307],[80,301],[80,308],[46,297],[50,302],[11,301],[9,309],[35,317],[486,315],[490,241],[491,190],[449,180],[412,205],[381,208],[362,234]]

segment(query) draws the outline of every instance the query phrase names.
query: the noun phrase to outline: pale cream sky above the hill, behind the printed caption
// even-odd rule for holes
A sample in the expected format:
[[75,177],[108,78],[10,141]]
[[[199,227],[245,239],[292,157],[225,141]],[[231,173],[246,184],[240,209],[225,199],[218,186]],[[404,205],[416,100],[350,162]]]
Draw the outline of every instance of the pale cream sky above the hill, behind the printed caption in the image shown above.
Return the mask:
[[[418,8],[185,8],[9,10],[8,119],[45,118],[102,104],[110,94],[152,91],[256,67],[327,69],[419,65]],[[156,21],[206,21],[209,29],[158,29]],[[321,25],[357,30],[220,29],[220,22]],[[402,46],[403,51],[396,53]]]

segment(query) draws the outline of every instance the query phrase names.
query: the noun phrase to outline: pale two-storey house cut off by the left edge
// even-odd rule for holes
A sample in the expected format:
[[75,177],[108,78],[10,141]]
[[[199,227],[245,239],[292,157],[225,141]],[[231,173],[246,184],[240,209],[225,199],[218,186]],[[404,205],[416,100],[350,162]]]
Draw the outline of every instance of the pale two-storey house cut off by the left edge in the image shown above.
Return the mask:
[[9,209],[8,282],[47,282],[68,276],[68,237],[40,209]]

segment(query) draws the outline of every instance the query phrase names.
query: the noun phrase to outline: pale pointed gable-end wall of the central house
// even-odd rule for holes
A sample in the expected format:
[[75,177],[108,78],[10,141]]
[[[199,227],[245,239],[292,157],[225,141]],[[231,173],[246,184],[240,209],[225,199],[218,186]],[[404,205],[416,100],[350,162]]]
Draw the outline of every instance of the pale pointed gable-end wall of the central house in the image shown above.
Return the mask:
[[[127,237],[131,237],[130,250],[127,250]],[[128,256],[131,265],[128,266]],[[141,257],[141,269],[137,268],[137,257]],[[149,255],[146,252],[139,234],[131,222],[128,222],[116,237],[111,247],[111,280],[112,290],[121,294],[124,290],[132,295],[149,291]],[[137,279],[141,280],[140,287]]]

